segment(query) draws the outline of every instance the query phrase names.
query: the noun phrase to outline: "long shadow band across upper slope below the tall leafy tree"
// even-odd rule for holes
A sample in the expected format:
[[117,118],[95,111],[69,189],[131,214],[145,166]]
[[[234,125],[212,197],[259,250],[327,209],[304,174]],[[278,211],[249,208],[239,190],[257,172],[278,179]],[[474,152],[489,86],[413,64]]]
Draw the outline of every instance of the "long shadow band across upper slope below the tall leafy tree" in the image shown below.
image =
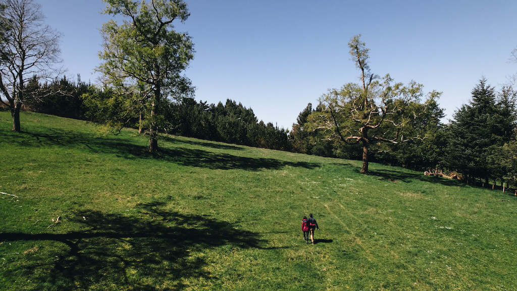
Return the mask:
[[[130,139],[95,137],[87,134],[60,132],[53,129],[52,134],[22,133],[20,137],[10,136],[7,142],[19,143],[23,147],[60,146],[82,148],[92,153],[110,153],[126,159],[156,159],[176,163],[183,166],[209,169],[242,169],[258,171],[261,169],[280,169],[285,166],[313,169],[320,167],[318,163],[287,162],[273,158],[253,158],[225,153],[214,153],[200,149],[183,147],[161,148],[156,153],[149,153],[146,148],[134,144]],[[199,143],[205,146],[206,143]],[[241,148],[238,148],[241,149]]]

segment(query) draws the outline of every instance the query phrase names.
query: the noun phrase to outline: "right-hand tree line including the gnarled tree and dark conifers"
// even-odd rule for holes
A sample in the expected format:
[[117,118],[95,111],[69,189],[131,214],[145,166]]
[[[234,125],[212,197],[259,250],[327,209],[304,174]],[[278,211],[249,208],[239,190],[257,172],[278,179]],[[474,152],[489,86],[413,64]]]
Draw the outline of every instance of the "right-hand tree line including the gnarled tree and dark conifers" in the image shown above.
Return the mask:
[[472,99],[442,123],[441,93],[423,92],[370,71],[369,49],[355,36],[348,43],[360,82],[328,90],[309,104],[290,132],[293,151],[359,159],[445,174],[467,183],[517,187],[517,92],[497,91],[481,78]]

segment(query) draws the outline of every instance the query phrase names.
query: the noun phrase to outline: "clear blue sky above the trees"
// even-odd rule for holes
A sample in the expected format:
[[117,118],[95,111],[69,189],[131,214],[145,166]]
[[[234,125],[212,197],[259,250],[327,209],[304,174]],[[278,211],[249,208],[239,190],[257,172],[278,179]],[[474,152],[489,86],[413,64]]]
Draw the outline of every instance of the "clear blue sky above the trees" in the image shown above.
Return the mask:
[[[66,75],[96,82],[102,49],[101,0],[36,0],[47,23],[63,33]],[[348,54],[357,34],[370,49],[370,68],[397,82],[415,80],[443,92],[446,118],[467,103],[481,77],[500,88],[517,72],[515,0],[186,0],[177,23],[195,45],[185,71],[196,100],[232,99],[258,120],[291,128],[328,89],[358,82]]]

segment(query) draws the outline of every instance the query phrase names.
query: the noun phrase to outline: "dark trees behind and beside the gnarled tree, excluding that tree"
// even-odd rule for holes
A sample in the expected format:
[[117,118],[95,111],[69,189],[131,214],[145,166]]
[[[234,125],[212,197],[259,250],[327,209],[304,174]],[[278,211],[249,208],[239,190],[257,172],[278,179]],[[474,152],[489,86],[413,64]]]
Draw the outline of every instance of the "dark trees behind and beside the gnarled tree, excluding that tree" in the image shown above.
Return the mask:
[[[458,109],[447,124],[440,122],[443,109],[435,99],[428,99],[423,103],[423,114],[411,122],[414,134],[408,137],[412,138],[397,143],[372,143],[368,157],[386,165],[457,176],[467,183],[502,186],[505,182],[515,186],[516,95],[509,86],[497,92],[482,78],[472,90],[469,103]],[[321,126],[329,112],[323,102],[316,108],[309,104],[300,112],[290,132],[293,151],[361,160],[362,144],[332,137]],[[401,128],[399,134],[410,133]]]

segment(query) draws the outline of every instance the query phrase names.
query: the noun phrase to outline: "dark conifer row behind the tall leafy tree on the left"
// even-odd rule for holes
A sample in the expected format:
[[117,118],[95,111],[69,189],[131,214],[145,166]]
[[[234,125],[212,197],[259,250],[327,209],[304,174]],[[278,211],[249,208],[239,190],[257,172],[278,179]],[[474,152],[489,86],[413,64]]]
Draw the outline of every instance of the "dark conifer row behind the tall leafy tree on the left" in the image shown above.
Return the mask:
[[[91,121],[99,132],[117,133],[123,127],[138,128],[147,134],[145,111],[129,110],[124,96],[95,84],[71,81],[66,76],[51,82],[38,82],[33,76],[24,84],[23,110]],[[253,110],[227,99],[223,104],[197,102],[194,98],[165,99],[161,106],[164,134],[180,135],[244,146],[290,151],[288,130],[271,122],[258,121]],[[5,109],[7,107],[4,106]],[[129,111],[128,111],[129,110]]]

